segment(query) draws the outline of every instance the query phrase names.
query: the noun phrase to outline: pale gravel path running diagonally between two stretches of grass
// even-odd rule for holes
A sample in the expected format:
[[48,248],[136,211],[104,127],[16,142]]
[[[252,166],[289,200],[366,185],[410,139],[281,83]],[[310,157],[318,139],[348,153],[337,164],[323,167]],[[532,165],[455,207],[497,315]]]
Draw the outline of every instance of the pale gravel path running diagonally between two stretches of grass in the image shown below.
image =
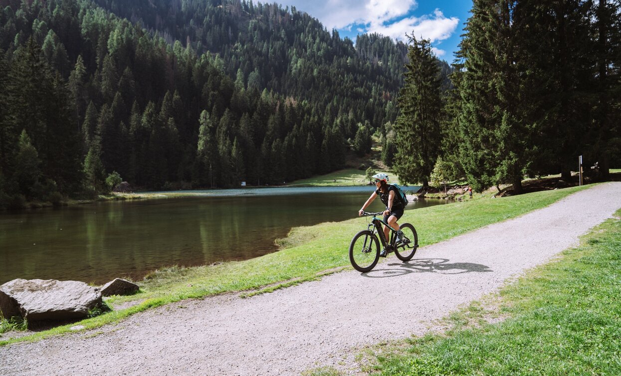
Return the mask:
[[432,320],[578,244],[579,235],[618,208],[621,182],[600,184],[514,220],[424,246],[410,262],[391,254],[366,275],[352,269],[252,298],[178,302],[92,334],[0,347],[0,374],[289,375],[321,365],[342,369],[352,349],[424,333]]

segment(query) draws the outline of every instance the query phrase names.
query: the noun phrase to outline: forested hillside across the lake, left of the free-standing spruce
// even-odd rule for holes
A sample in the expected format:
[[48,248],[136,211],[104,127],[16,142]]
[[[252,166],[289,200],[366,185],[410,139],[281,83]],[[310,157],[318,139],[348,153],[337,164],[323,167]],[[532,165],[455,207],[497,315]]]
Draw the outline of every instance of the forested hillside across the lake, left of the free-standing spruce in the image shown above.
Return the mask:
[[106,177],[155,189],[280,184],[342,167],[396,119],[406,45],[365,35],[355,47],[296,9],[0,6],[2,206],[95,194]]

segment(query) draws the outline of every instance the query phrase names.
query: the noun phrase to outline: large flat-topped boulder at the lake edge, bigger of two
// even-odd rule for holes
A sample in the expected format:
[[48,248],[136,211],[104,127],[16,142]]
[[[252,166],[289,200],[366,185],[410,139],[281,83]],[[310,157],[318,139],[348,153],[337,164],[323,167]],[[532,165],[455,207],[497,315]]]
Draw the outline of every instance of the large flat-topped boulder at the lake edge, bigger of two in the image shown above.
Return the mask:
[[0,286],[0,310],[4,318],[22,316],[28,321],[84,318],[101,303],[99,289],[76,280],[14,279]]

